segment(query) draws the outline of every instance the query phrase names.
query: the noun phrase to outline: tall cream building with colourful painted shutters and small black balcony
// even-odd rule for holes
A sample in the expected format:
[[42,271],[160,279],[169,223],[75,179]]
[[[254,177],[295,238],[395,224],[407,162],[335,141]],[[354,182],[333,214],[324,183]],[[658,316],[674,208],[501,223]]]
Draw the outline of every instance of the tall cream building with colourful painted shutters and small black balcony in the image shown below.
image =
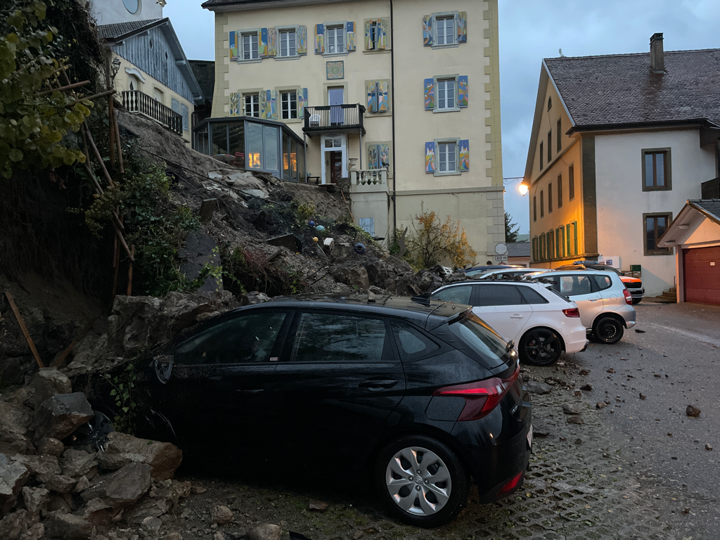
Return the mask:
[[215,13],[213,118],[258,117],[305,138],[307,180],[351,179],[354,218],[373,235],[411,227],[422,205],[459,220],[478,257],[495,254],[497,0],[202,5]]

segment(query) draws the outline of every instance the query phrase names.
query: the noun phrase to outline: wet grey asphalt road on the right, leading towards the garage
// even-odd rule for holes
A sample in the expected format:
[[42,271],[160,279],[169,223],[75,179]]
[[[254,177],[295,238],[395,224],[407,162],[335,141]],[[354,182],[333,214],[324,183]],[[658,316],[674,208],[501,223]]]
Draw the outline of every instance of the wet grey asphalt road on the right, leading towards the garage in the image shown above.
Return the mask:
[[720,307],[642,302],[636,310],[620,343],[593,343],[567,360],[590,369],[588,400],[610,401],[600,414],[639,484],[658,505],[718,531]]

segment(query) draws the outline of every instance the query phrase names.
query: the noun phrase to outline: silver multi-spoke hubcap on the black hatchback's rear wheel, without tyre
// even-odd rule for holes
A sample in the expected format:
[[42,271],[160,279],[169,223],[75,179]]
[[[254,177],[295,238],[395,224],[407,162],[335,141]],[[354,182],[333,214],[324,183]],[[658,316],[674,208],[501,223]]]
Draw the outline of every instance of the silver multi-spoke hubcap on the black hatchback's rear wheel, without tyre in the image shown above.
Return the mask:
[[420,446],[409,446],[392,456],[385,483],[395,504],[414,516],[432,516],[442,510],[452,490],[443,460]]

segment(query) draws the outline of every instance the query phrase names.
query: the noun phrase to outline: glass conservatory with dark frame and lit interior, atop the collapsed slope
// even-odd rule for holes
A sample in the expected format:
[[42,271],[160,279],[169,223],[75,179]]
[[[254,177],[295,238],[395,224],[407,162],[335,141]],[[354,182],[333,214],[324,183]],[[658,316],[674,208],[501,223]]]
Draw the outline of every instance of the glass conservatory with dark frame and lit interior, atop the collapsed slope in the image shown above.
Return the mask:
[[253,117],[206,118],[193,129],[193,148],[248,170],[305,181],[305,143],[287,125]]

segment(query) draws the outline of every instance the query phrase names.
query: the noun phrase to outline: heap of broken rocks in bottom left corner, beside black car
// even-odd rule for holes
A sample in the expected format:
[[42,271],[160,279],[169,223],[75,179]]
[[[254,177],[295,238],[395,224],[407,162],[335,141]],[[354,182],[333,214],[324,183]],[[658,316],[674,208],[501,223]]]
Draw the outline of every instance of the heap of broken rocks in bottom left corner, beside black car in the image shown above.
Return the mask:
[[100,451],[66,446],[94,417],[68,377],[41,369],[0,401],[0,539],[114,540],[173,528],[168,511],[190,495],[173,479],[181,451],[109,433]]

